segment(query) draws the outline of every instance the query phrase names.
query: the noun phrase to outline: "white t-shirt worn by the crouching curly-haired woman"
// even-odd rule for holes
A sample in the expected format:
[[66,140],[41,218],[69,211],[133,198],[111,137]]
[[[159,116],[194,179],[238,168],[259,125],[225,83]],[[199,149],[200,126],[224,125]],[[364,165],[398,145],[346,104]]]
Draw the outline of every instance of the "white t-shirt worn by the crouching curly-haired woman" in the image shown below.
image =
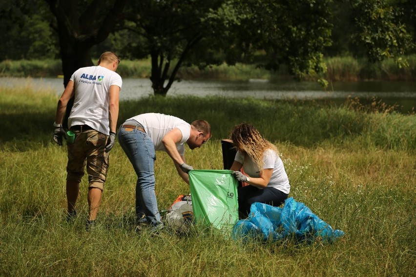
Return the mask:
[[[250,177],[260,178],[260,169],[250,157],[245,158],[240,151],[237,151],[234,160],[243,164],[244,172]],[[267,149],[263,154],[263,161],[263,169],[273,169],[273,173],[271,174],[270,181],[267,186],[289,194],[291,186],[289,184],[289,178],[286,174],[282,159],[277,156],[276,152],[271,149]]]

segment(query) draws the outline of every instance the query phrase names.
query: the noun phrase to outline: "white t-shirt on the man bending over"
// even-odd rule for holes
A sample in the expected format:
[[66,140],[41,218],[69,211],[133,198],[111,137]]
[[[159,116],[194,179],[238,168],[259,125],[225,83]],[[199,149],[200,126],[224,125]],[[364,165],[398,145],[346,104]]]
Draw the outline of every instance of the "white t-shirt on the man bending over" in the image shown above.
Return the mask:
[[176,143],[176,149],[181,156],[185,155],[184,143],[189,139],[191,128],[189,123],[173,116],[156,113],[141,114],[126,121],[131,119],[142,124],[146,134],[152,139],[156,151],[166,152],[162,139],[174,128],[178,128],[182,133],[182,139]]

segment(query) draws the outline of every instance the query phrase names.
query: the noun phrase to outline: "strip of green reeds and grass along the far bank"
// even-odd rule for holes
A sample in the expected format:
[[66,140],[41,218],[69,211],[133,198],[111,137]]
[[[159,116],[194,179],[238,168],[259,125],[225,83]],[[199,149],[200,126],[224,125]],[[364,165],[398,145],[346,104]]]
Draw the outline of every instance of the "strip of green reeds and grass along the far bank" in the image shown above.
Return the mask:
[[[333,57],[325,59],[328,70],[324,77],[331,81],[356,80],[390,80],[415,81],[416,55],[402,58],[408,66],[399,67],[394,59],[370,63],[366,59],[353,57]],[[124,78],[149,78],[151,64],[145,60],[122,60],[117,72]],[[0,77],[57,77],[62,75],[60,59],[46,60],[3,60],[0,62]],[[211,66],[204,70],[197,66],[183,67],[179,70],[179,79],[279,79],[291,78],[287,68],[281,67],[277,72],[257,68],[255,65],[237,63]],[[309,75],[307,80],[315,80],[318,76]]]

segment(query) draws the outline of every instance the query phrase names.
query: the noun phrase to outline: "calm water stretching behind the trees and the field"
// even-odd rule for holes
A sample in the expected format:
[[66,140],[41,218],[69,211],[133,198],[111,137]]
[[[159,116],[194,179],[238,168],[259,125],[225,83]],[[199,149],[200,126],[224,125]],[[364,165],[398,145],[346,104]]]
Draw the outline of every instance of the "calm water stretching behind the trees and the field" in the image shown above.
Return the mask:
[[[35,86],[52,89],[58,95],[63,91],[59,78],[0,78],[0,86]],[[123,79],[120,100],[140,99],[153,95],[149,79]],[[387,105],[397,105],[396,110],[408,113],[416,108],[416,82],[358,81],[330,83],[327,90],[317,82],[296,82],[264,79],[248,81],[183,80],[175,82],[167,96],[221,96],[225,98],[300,99],[342,104],[349,97],[369,102],[373,97]]]

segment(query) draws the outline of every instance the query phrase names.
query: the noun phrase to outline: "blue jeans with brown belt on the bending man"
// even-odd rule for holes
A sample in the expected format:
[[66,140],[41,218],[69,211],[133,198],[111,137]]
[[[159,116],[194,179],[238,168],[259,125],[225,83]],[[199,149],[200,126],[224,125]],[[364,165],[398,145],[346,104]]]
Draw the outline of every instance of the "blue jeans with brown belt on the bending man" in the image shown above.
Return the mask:
[[162,224],[155,194],[156,152],[153,142],[146,133],[122,126],[119,129],[118,140],[137,175],[137,218],[145,215],[149,224]]

